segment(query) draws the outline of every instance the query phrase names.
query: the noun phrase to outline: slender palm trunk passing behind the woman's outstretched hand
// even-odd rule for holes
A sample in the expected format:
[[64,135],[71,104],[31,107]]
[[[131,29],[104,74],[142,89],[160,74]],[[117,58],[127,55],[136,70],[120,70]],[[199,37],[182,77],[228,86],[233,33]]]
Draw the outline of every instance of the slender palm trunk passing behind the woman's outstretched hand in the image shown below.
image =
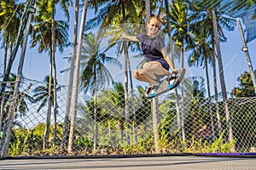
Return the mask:
[[[122,14],[123,14],[123,29],[126,33],[126,17],[125,17],[125,0],[122,0]],[[125,52],[125,125],[126,125],[126,142],[130,145],[130,121],[129,121],[129,94],[128,94],[128,48],[126,42],[124,41],[124,52]]]

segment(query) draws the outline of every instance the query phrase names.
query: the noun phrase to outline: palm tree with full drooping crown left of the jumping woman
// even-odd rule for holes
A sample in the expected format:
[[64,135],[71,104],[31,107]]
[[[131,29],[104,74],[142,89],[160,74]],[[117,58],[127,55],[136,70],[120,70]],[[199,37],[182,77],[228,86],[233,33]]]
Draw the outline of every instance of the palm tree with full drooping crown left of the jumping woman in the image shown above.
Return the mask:
[[102,38],[96,40],[96,35],[92,33],[84,37],[82,56],[81,56],[81,86],[86,93],[89,89],[93,89],[94,94],[94,151],[97,144],[97,126],[96,126],[96,93],[97,91],[109,86],[113,82],[113,78],[105,64],[118,65],[121,68],[119,60],[100,53]]

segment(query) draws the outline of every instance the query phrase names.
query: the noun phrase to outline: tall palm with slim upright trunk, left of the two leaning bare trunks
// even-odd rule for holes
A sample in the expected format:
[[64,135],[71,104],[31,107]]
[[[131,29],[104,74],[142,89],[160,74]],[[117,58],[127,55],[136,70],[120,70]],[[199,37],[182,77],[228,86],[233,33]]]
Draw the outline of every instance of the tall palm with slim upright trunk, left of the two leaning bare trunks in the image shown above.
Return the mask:
[[[52,72],[54,73],[53,85],[52,81],[49,80],[49,89],[53,86],[54,91],[54,145],[56,138],[56,68],[55,68],[55,46],[59,48],[61,52],[63,49],[69,45],[68,41],[68,25],[67,21],[55,20],[55,5],[57,1],[40,1],[37,2],[38,13],[36,15],[36,24],[33,26],[32,35],[32,47],[35,47],[39,43],[38,52],[49,51],[49,79],[52,78]],[[71,2],[61,1],[61,7],[69,20],[69,15],[67,13],[67,8]],[[45,20],[47,19],[47,20]],[[49,20],[50,19],[50,20]],[[56,44],[56,45],[55,45]],[[51,96],[51,91],[49,91],[48,96]],[[50,98],[49,98],[50,99]],[[48,101],[50,104],[50,101]],[[49,105],[50,107],[50,105]],[[50,109],[49,109],[50,111]],[[48,113],[50,114],[50,112]],[[48,117],[48,116],[47,116]],[[46,135],[48,136],[48,135]],[[45,145],[45,147],[47,147]]]

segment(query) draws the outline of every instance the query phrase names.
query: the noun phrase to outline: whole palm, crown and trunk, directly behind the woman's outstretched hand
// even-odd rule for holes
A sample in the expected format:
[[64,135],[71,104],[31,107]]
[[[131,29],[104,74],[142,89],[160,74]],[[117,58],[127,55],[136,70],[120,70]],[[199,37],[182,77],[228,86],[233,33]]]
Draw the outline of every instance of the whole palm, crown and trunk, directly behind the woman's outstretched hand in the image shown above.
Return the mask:
[[[87,23],[86,30],[93,29],[96,26],[100,27],[99,36],[102,35],[102,31],[105,31],[108,26],[123,24],[123,31],[126,33],[126,23],[128,18],[126,15],[129,14],[129,19],[132,23],[138,23],[137,11],[135,1],[124,1],[117,0],[114,2],[102,1],[101,9],[99,10],[96,17],[89,20]],[[119,20],[120,19],[120,20]],[[120,34],[121,32],[119,32]],[[112,45],[114,42],[112,43]],[[126,122],[126,141],[127,144],[130,144],[130,136],[128,133],[129,129],[129,105],[128,105],[128,48],[126,42],[123,42],[123,49],[125,52],[125,122]]]

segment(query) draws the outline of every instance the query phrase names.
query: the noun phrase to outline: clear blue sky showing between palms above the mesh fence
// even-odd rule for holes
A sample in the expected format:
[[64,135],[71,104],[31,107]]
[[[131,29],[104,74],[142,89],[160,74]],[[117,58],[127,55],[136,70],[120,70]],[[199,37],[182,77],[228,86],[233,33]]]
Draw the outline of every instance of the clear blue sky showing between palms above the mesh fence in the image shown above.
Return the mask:
[[[71,19],[73,18],[73,10],[71,11]],[[87,14],[87,19],[90,19],[94,13]],[[61,15],[58,16],[61,19]],[[73,22],[70,23],[70,41],[73,42]],[[241,75],[244,71],[248,71],[247,66],[247,59],[244,54],[244,52],[241,51],[242,48],[242,42],[241,42],[241,35],[239,33],[238,27],[236,26],[235,31],[225,31],[225,36],[228,38],[227,42],[221,43],[221,52],[222,52],[222,58],[223,58],[223,64],[224,64],[224,77],[226,81],[226,87],[228,92],[231,91],[232,88],[236,87],[238,82],[236,81],[237,77]],[[29,47],[29,46],[27,46]],[[253,63],[253,69],[256,69],[256,40],[253,40],[252,42],[247,43],[247,47],[249,49],[249,54],[252,59]],[[1,54],[3,54],[3,50],[1,50]],[[63,57],[67,57],[69,54],[72,53],[72,48],[65,49],[63,54],[56,53],[56,67],[57,67],[57,74],[58,74],[58,82],[60,84],[67,84],[68,81],[68,73],[61,74],[60,71],[67,68],[68,62],[66,59],[63,59]],[[137,52],[139,53],[139,52]],[[132,54],[131,54],[132,55]],[[17,67],[18,59],[20,58],[20,53],[17,54],[17,57],[15,59],[15,65],[13,72],[16,73],[15,68]],[[120,58],[120,61],[123,62],[123,58]],[[134,70],[137,67],[137,59],[133,59],[131,57],[131,69]],[[3,64],[3,58],[0,59],[0,65]],[[177,62],[176,62],[176,65]],[[178,66],[177,66],[178,68]],[[109,69],[113,69],[113,67],[109,67]],[[195,68],[191,67],[189,68],[186,66],[187,73],[186,77],[204,77],[205,71],[202,68]],[[3,68],[0,67],[0,70],[2,72]],[[210,82],[211,82],[211,88],[212,88],[212,67],[209,67],[210,70]],[[115,81],[124,81],[123,71],[113,69],[113,77]],[[44,77],[49,74],[49,55],[48,54],[38,54],[38,48],[27,48],[26,49],[26,59],[24,63],[24,71],[23,74],[25,77],[32,79],[32,80],[38,80],[43,81]],[[146,83],[138,82],[134,80],[136,85],[142,84],[147,85]],[[219,82],[219,81],[218,81]],[[218,84],[218,91],[220,91],[220,85]],[[213,91],[213,89],[211,90]]]

